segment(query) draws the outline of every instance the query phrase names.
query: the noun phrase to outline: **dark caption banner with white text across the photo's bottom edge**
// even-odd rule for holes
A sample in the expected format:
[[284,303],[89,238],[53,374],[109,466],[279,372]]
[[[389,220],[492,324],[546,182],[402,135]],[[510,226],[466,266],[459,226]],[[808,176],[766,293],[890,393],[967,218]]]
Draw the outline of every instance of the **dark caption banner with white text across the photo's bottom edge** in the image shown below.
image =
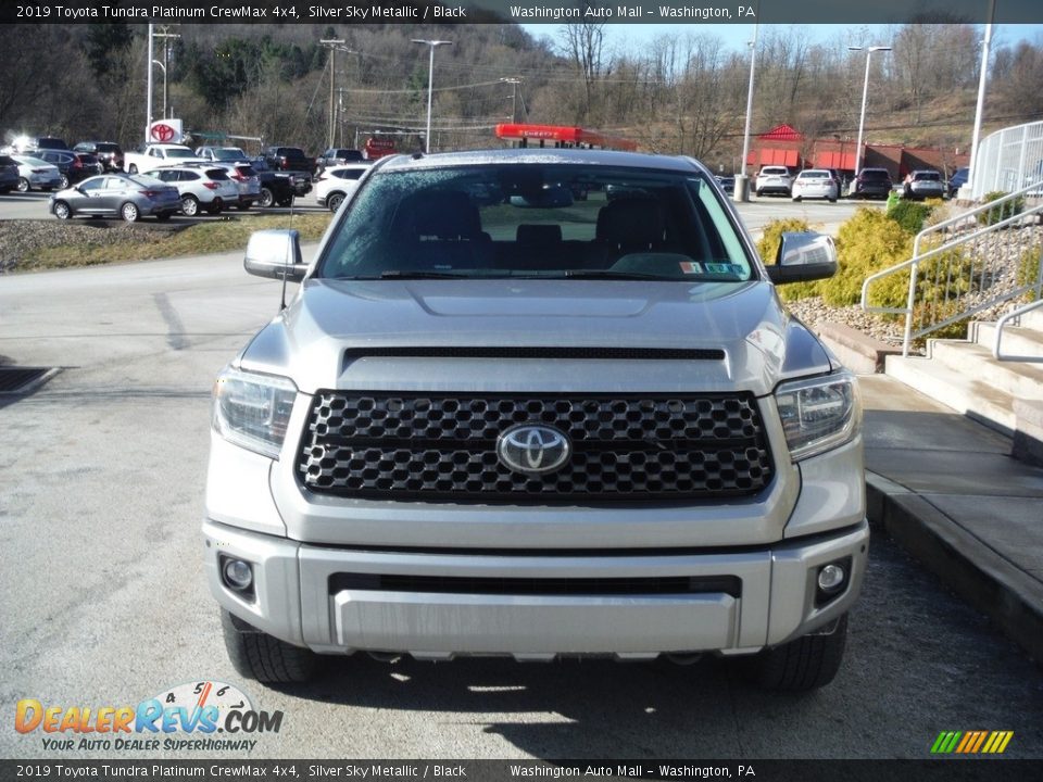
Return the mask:
[[1040,760],[0,760],[0,780],[755,780],[1004,782]]

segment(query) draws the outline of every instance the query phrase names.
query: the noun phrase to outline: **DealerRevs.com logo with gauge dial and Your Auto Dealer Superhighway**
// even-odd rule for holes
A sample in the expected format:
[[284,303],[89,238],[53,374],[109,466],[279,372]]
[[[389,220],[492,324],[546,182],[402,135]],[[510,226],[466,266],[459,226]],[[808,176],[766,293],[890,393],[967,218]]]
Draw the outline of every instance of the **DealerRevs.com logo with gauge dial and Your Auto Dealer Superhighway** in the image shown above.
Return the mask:
[[54,751],[250,752],[264,733],[278,733],[282,711],[260,711],[239,688],[218,681],[179,684],[137,706],[65,706],[23,698],[14,729],[39,734]]

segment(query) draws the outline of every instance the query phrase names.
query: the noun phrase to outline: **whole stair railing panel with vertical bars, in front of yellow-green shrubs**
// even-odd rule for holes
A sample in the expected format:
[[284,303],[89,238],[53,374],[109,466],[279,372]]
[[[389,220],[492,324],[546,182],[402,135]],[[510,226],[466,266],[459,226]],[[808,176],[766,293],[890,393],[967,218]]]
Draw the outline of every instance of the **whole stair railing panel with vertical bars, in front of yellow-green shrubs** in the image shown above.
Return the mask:
[[[908,355],[915,339],[1030,291],[1040,299],[1041,197],[1043,180],[925,228],[913,242],[913,257],[866,278],[862,308],[904,315],[902,355]],[[1019,268],[1031,266],[1029,253],[1035,254],[1035,273],[1019,279]],[[909,275],[905,306],[869,304],[874,283],[903,273]]]

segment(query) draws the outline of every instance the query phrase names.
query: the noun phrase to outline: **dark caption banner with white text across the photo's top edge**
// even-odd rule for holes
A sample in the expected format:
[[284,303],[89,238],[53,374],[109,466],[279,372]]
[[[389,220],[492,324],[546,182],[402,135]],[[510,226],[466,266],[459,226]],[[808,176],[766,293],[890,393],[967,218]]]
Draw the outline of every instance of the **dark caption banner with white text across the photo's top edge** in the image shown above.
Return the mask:
[[0,23],[908,24],[1043,23],[1040,0],[41,0]]

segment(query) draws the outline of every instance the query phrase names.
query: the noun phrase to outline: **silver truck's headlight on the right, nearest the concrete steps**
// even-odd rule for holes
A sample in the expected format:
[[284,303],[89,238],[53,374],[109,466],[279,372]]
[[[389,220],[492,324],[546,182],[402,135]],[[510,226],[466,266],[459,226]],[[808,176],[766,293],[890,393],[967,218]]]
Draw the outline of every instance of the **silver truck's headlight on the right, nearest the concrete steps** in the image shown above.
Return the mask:
[[862,428],[858,383],[849,371],[782,383],[775,401],[794,462],[843,445]]

